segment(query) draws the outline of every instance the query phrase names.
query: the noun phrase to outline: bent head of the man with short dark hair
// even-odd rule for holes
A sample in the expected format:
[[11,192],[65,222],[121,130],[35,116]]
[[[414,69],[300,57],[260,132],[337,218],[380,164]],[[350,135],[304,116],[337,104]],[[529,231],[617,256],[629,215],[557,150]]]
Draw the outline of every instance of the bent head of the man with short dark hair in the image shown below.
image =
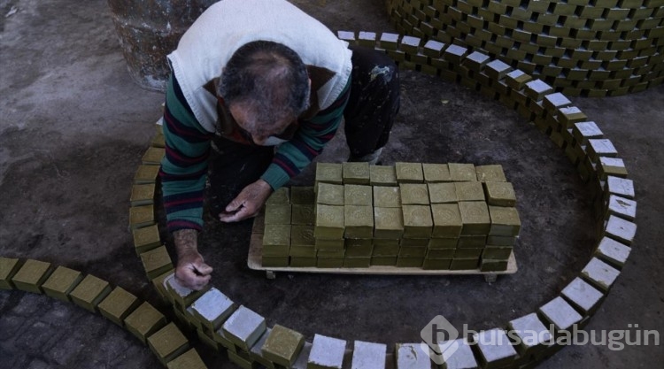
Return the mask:
[[252,110],[259,127],[269,129],[309,104],[306,66],[294,50],[271,41],[254,41],[235,51],[221,74],[217,90],[228,106]]

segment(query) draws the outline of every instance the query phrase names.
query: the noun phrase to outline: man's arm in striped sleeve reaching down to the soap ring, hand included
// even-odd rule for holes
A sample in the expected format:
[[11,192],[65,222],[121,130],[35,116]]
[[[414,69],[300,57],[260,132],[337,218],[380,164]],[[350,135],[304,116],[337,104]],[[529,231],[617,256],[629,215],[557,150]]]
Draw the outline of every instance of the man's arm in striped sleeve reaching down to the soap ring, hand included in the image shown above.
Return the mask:
[[203,228],[203,196],[211,135],[198,124],[174,76],[168,81],[164,111],[166,156],[161,179],[166,227],[174,235],[178,262],[175,276],[200,289],[210,281],[212,267],[198,253],[197,235]]

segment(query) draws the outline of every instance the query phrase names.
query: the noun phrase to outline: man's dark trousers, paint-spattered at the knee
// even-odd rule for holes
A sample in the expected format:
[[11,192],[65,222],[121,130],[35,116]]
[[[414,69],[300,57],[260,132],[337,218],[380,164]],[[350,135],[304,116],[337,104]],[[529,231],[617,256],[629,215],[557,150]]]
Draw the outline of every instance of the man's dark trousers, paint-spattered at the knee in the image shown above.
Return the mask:
[[[351,95],[344,110],[344,134],[351,158],[361,158],[385,146],[390,138],[399,107],[398,68],[380,51],[354,46],[351,50]],[[244,187],[265,173],[274,148],[243,145],[220,136],[212,147],[208,202],[216,218]]]

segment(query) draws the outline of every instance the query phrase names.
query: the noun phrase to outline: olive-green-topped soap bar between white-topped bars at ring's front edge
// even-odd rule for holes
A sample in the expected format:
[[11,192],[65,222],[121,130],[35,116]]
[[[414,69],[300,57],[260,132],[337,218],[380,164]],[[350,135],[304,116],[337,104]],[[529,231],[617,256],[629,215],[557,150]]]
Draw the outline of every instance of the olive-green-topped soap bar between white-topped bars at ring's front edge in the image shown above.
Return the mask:
[[290,367],[305,345],[305,336],[275,324],[261,348],[263,356],[275,364]]

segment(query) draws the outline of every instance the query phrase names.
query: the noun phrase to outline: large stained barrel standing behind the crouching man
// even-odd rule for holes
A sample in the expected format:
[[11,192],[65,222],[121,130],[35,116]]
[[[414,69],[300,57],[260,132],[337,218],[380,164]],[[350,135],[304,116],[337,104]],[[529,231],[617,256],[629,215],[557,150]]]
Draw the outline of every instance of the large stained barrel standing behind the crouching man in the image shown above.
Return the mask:
[[163,91],[166,55],[198,16],[218,0],[108,0],[127,69],[142,88]]

